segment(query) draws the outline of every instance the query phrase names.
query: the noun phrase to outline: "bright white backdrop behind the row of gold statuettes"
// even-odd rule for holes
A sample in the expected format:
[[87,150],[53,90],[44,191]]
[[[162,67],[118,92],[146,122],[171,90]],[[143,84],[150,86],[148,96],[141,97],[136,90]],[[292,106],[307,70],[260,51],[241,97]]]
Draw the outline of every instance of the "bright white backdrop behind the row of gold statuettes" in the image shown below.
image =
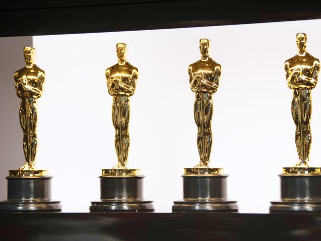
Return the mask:
[[[292,91],[283,63],[297,53],[295,35],[321,58],[321,20],[171,30],[34,37],[46,82],[39,100],[38,168],[54,176],[53,198],[65,212],[86,212],[100,195],[102,168],[116,164],[112,97],[105,70],[117,63],[116,43],[128,44],[139,69],[130,98],[129,167],[141,168],[145,198],[171,211],[182,198],[184,167],[199,161],[194,93],[187,67],[200,59],[199,39],[222,65],[213,95],[212,167],[229,174],[229,198],[241,212],[268,212],[279,198],[282,166],[297,161]],[[312,91],[311,164],[321,165],[321,86]],[[22,138],[22,137],[21,137]]]

